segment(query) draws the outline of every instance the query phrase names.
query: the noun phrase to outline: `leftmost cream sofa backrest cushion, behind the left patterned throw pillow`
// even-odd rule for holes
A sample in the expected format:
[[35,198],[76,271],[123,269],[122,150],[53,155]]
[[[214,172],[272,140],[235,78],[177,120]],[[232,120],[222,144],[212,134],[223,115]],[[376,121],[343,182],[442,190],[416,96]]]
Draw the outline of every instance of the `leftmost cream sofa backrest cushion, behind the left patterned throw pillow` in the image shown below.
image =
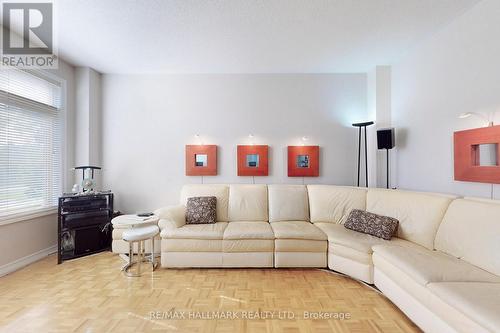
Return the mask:
[[187,199],[192,197],[216,197],[217,198],[217,222],[227,222],[229,186],[212,184],[191,184],[184,185],[181,191],[181,205],[186,206]]

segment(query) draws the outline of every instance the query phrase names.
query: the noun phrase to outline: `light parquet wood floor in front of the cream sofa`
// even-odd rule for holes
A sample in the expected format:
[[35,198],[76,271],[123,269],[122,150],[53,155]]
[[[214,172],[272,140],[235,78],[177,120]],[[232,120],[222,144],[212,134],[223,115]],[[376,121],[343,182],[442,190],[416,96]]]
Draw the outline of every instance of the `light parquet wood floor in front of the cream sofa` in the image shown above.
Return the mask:
[[322,270],[159,268],[127,278],[122,265],[112,253],[62,265],[53,255],[0,278],[0,331],[419,332],[384,296]]

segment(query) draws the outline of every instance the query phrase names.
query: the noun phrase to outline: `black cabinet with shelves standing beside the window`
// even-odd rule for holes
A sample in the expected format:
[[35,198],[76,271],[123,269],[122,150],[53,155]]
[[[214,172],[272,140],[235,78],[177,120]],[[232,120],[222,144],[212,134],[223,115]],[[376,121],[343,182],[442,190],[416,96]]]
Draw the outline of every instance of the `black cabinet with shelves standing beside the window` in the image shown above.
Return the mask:
[[111,249],[113,193],[59,198],[57,263]]

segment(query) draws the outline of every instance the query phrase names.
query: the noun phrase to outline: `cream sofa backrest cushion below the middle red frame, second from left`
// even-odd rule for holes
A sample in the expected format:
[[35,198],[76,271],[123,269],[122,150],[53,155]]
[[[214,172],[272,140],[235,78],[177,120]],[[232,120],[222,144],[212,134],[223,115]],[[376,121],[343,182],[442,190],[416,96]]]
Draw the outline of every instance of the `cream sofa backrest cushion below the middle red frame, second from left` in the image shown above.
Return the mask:
[[268,221],[267,185],[229,185],[231,221]]

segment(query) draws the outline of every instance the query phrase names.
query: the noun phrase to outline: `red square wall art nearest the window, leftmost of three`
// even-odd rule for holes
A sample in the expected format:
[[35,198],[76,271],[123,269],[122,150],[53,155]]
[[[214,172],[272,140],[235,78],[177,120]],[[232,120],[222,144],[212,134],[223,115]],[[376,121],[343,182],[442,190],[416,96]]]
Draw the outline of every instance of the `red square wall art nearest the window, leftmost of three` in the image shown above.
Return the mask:
[[186,145],[186,176],[216,176],[217,146]]

